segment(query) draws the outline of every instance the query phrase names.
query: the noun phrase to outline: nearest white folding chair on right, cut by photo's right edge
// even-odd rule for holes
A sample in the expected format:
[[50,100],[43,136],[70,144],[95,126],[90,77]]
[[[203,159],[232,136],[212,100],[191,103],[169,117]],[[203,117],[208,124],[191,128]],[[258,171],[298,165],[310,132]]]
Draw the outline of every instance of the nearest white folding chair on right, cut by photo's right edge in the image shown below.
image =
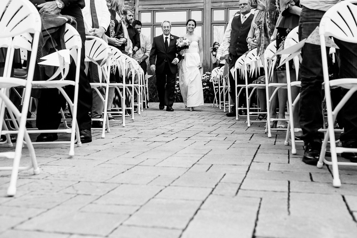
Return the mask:
[[[346,0],[331,7],[323,15],[319,28],[328,129],[322,143],[320,160],[317,167],[322,168],[323,163],[332,165],[334,187],[341,186],[339,165],[357,166],[357,163],[338,162],[337,153],[357,153],[357,148],[336,147],[334,131],[334,122],[337,114],[352,94],[357,91],[357,78],[340,78],[338,80],[329,81],[325,37],[334,37],[345,42],[357,43],[357,24],[355,21],[357,18],[357,6],[354,5],[355,3],[357,3],[356,0]],[[348,89],[349,91],[333,110],[330,88],[337,86]],[[328,143],[330,145],[331,161],[325,159],[326,146]]]

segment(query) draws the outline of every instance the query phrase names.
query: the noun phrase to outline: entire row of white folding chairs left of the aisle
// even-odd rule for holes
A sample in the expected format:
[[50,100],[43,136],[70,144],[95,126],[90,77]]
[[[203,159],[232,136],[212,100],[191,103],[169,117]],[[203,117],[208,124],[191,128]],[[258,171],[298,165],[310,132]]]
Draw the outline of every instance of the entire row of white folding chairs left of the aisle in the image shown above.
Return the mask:
[[[39,37],[41,34],[41,18],[34,7],[28,0],[3,0],[0,2],[0,11],[3,12],[0,19],[0,47],[7,48],[7,55],[5,59],[4,74],[0,77],[0,123],[2,129],[1,135],[6,136],[7,145],[12,147],[11,134],[17,134],[17,142],[14,152],[0,152],[0,156],[7,157],[13,160],[13,166],[0,167],[0,170],[10,170],[11,178],[10,185],[7,191],[9,196],[16,194],[16,181],[18,171],[33,169],[34,174],[38,174],[40,169],[37,165],[36,153],[34,144],[30,135],[33,133],[68,133],[70,134],[69,141],[55,141],[45,142],[46,144],[69,144],[69,155],[74,155],[74,144],[81,146],[79,140],[79,127],[77,123],[77,104],[78,104],[78,85],[79,85],[79,69],[81,64],[81,50],[82,41],[79,33],[71,25],[65,25],[64,42],[65,49],[58,50],[53,54],[47,55],[41,60],[39,64],[54,66],[57,71],[46,81],[34,81],[34,71],[36,64],[36,56],[38,51]],[[118,114],[121,114],[122,125],[125,126],[125,111],[130,109],[131,117],[134,120],[134,111],[137,110],[140,114],[143,110],[142,100],[145,99],[145,77],[139,64],[122,54],[115,47],[110,47],[105,41],[95,37],[87,37],[86,43],[86,62],[92,62],[98,67],[99,83],[91,83],[91,87],[96,91],[98,88],[105,89],[105,95],[100,99],[104,104],[103,118],[98,120],[103,121],[103,128],[101,137],[105,137],[105,131],[110,131],[108,120],[108,97],[109,89],[114,88],[121,99],[121,108],[117,108]],[[27,75],[21,77],[13,77],[12,62],[16,49],[21,49],[22,52],[31,51],[31,58],[27,66]],[[22,54],[23,58],[26,57]],[[75,80],[66,80],[69,71],[70,63],[74,62],[76,65]],[[110,82],[111,67],[118,70],[123,80],[120,83]],[[56,80],[54,80],[56,78]],[[58,78],[60,78],[58,80]],[[64,90],[64,87],[74,87],[73,100]],[[22,88],[22,93],[15,90],[15,95],[20,97],[20,110],[10,100],[10,90],[14,88]],[[28,112],[31,111],[30,104],[32,89],[47,89],[55,88],[64,96],[67,101],[71,119],[66,118],[66,114],[61,111],[64,128],[57,130],[38,130],[28,129],[26,124],[28,122]],[[130,105],[126,106],[125,101],[130,101]],[[70,123],[69,123],[70,122]],[[41,142],[42,143],[42,142]],[[22,156],[22,147],[26,145],[30,152],[31,166],[20,167],[20,160]]]

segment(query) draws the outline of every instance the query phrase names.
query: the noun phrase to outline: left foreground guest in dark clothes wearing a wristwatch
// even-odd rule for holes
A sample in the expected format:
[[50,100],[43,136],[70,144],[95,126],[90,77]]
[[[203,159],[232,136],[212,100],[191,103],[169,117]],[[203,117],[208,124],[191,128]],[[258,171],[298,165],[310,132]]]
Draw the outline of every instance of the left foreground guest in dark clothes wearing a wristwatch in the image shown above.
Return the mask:
[[[88,3],[89,4],[89,3]],[[48,14],[63,14],[75,17],[77,21],[77,31],[81,35],[82,39],[82,54],[81,54],[81,68],[79,79],[79,93],[78,93],[78,111],[77,121],[80,129],[80,139],[82,143],[88,143],[92,141],[91,135],[91,119],[89,117],[89,111],[92,107],[92,89],[89,84],[89,79],[85,73],[85,47],[84,42],[86,40],[85,27],[82,15],[82,9],[85,6],[85,0],[56,0],[46,1],[46,3],[37,5],[40,13]],[[75,64],[71,64],[67,76],[68,80],[75,78]],[[72,90],[73,89],[68,89]],[[74,92],[69,93],[73,98]],[[60,96],[58,91],[52,89],[42,90],[41,97],[38,101],[36,125],[39,129],[57,129],[61,123],[58,112],[61,105],[64,102],[64,98]],[[42,133],[37,137],[36,141],[46,142],[57,140],[56,133]]]

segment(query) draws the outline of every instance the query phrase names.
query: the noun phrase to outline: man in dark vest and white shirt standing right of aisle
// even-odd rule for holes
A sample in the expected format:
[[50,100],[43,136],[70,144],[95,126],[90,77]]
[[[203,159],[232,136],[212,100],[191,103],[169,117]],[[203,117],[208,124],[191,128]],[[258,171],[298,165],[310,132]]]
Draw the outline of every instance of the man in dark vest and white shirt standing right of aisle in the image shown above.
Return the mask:
[[[251,21],[253,20],[253,15],[250,14],[250,8],[249,0],[240,0],[240,14],[236,14],[236,16],[230,19],[224,32],[222,43],[224,49],[223,54],[224,59],[230,65],[230,69],[234,67],[238,58],[248,50],[246,39],[250,30]],[[231,84],[231,97],[233,101],[235,101],[235,81],[233,75],[231,73],[229,75]],[[236,116],[236,105],[232,108],[232,112],[227,113],[226,116]]]

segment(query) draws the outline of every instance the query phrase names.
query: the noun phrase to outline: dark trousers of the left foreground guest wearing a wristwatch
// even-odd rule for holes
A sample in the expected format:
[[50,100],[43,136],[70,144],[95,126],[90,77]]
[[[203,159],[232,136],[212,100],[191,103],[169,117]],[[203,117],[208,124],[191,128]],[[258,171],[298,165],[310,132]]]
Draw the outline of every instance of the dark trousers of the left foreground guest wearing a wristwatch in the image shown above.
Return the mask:
[[[92,107],[92,89],[89,84],[88,77],[84,71],[84,59],[85,59],[85,47],[84,42],[86,40],[84,21],[82,10],[79,6],[71,5],[71,7],[65,7],[61,14],[75,17],[77,21],[77,31],[81,35],[82,39],[82,52],[81,52],[81,65],[80,65],[80,78],[79,78],[79,94],[78,94],[78,111],[77,121],[80,129],[90,129],[91,119],[89,112]],[[75,65],[74,62],[70,65],[67,80],[74,81],[75,78]],[[73,100],[74,87],[66,86],[66,92]],[[43,89],[41,90],[41,96],[38,100],[36,126],[39,129],[57,129],[61,123],[61,116],[58,114],[61,106],[65,105],[65,99],[59,94],[57,89]]]

